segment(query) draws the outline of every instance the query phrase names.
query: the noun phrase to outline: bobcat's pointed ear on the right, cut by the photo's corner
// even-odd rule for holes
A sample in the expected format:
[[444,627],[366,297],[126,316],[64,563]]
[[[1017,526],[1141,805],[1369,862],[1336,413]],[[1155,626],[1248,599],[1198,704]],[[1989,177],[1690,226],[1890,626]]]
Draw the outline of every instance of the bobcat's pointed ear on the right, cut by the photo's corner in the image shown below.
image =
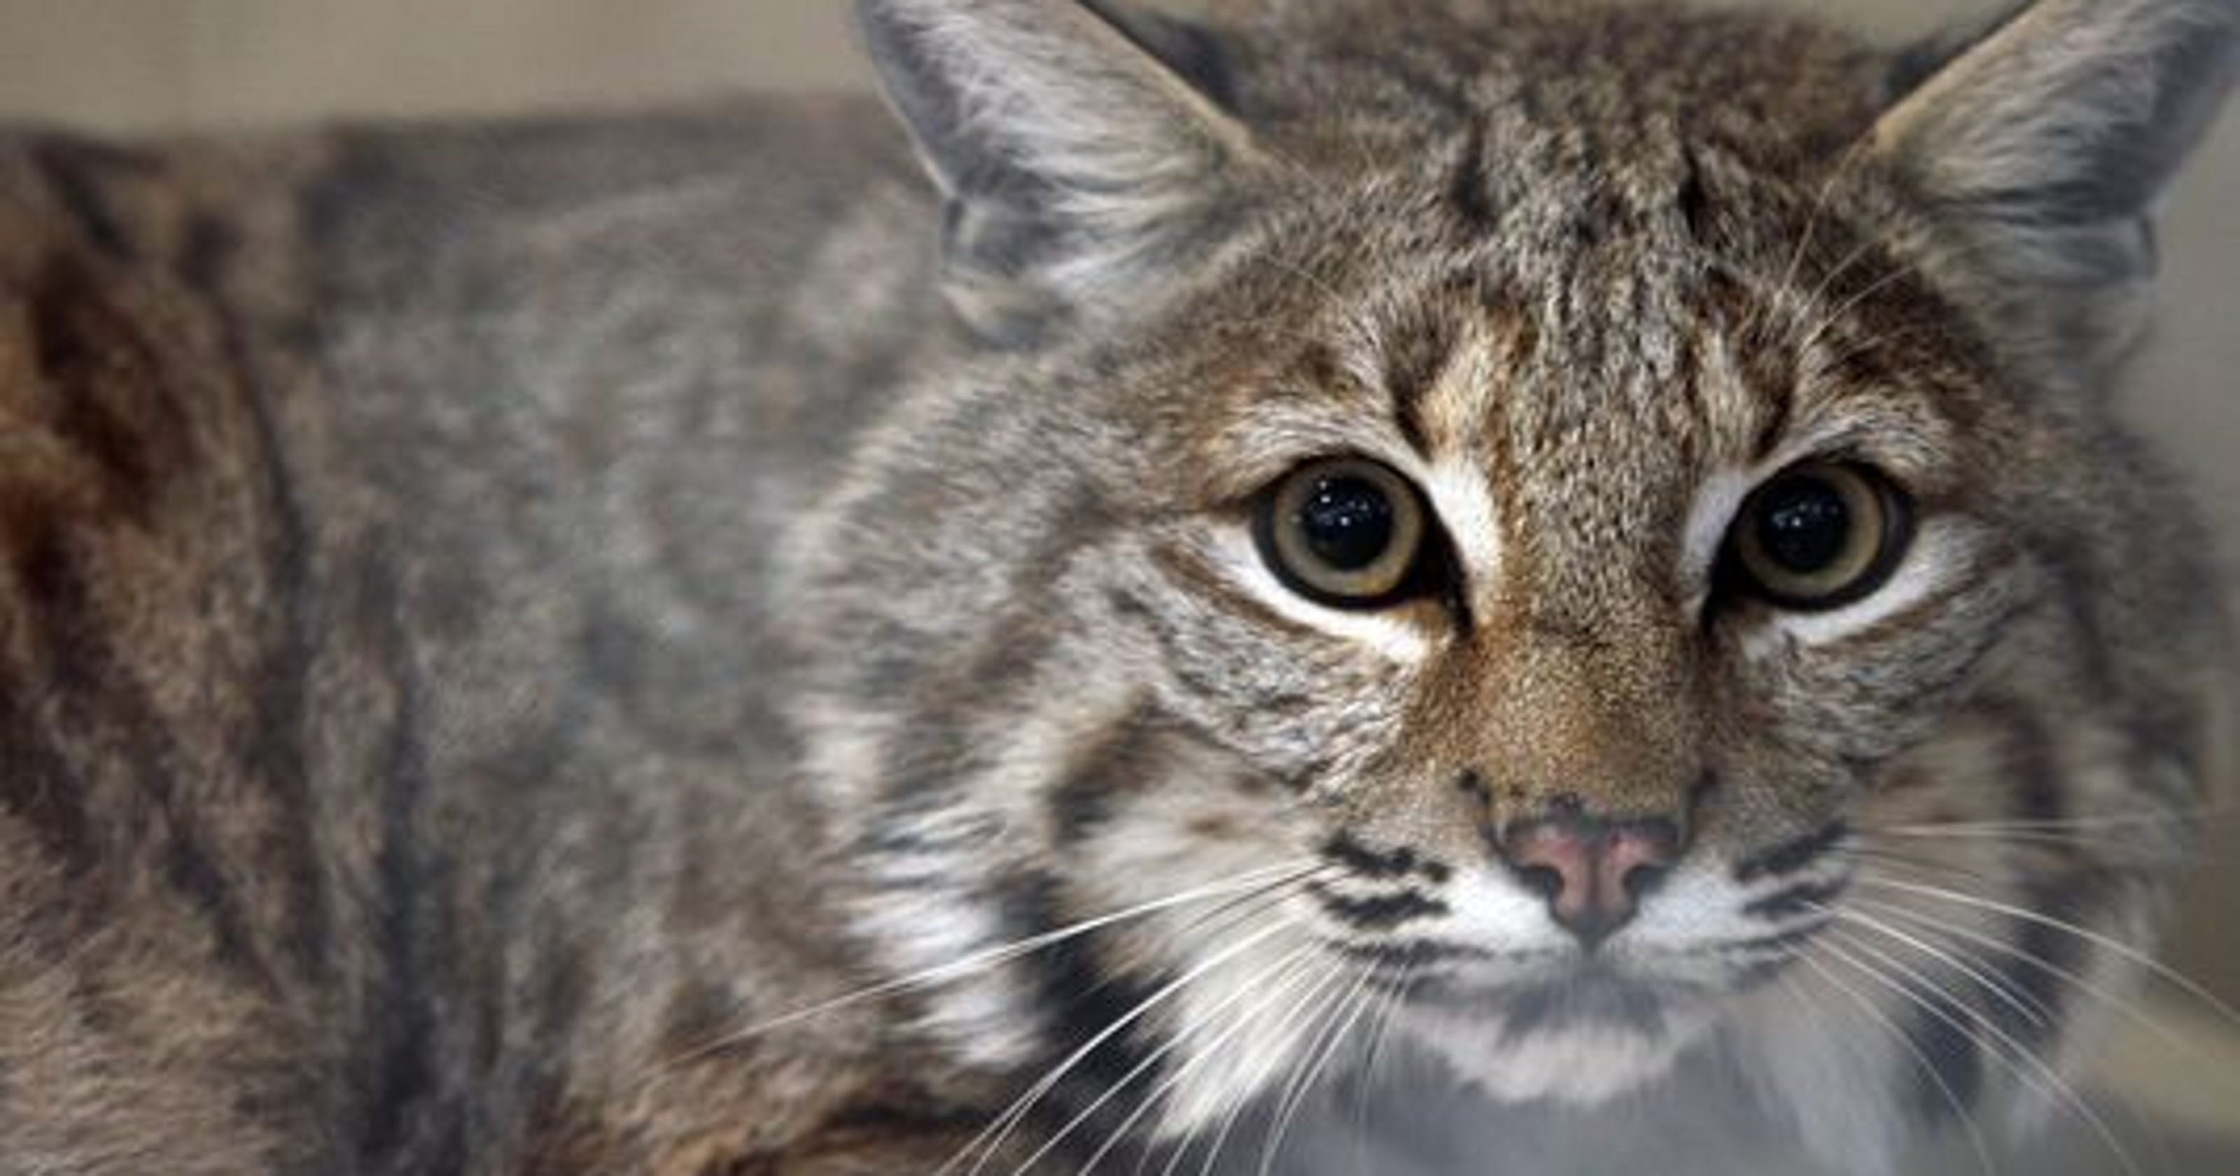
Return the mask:
[[2137,340],[2148,215],[2233,83],[2236,38],[2240,0],[2036,0],[1902,58],[1908,92],[1870,146],[2047,379],[2099,383]]

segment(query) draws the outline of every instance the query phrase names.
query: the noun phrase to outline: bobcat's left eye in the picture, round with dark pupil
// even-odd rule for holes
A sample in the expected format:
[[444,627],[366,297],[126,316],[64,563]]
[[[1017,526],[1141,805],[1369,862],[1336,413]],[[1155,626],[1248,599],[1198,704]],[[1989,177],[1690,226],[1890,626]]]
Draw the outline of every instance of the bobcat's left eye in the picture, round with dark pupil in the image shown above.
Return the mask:
[[1292,591],[1348,609],[1409,587],[1425,540],[1416,488],[1360,457],[1313,461],[1261,500],[1261,556]]

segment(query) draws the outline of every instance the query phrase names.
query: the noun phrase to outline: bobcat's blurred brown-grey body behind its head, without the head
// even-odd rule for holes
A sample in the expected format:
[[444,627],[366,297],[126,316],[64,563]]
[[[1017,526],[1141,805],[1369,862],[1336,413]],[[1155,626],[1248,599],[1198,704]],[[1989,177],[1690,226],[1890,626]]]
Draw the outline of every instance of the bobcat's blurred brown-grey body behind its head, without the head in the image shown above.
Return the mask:
[[865,977],[768,582],[943,347],[874,103],[0,175],[0,1172],[954,1127],[892,1006],[692,1057]]

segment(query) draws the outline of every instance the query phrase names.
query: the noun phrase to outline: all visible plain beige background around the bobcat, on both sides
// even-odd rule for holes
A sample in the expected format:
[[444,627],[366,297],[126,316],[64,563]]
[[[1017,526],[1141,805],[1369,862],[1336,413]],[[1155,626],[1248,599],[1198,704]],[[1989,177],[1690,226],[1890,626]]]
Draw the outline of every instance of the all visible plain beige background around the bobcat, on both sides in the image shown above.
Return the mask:
[[[1989,4],[1817,7],[1897,38]],[[0,0],[0,119],[114,132],[865,81],[842,0]],[[2195,475],[2240,553],[2240,112],[2171,195],[2162,240],[2162,332],[2126,403]],[[2222,930],[2240,898],[2240,820],[2220,809],[2213,824],[2177,961],[2240,1004],[2240,932]]]

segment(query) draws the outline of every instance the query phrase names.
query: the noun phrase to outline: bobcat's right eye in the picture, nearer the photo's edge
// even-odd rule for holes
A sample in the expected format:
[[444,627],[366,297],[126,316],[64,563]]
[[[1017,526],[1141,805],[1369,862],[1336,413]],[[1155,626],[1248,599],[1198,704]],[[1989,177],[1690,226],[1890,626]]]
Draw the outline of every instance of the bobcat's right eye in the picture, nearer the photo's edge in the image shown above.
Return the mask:
[[1906,497],[1879,473],[1805,461],[1749,495],[1727,542],[1765,600],[1832,609],[1891,578],[1911,526]]

